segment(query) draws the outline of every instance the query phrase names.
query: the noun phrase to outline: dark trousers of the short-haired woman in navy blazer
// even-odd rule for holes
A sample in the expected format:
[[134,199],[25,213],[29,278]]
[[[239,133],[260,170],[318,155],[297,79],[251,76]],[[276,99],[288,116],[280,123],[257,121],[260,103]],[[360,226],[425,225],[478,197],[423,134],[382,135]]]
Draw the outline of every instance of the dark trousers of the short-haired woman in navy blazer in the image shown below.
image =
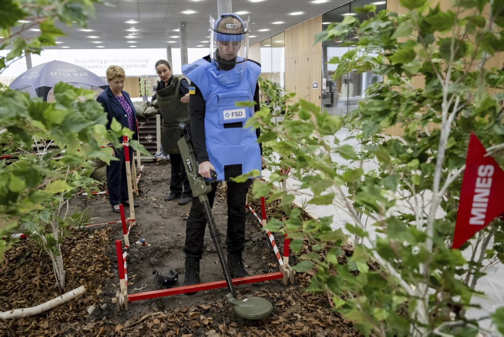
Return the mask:
[[[130,150],[130,168],[133,161],[133,149]],[[115,157],[119,160],[110,160],[107,166],[107,188],[108,200],[110,204],[118,205],[130,199],[128,195],[128,179],[126,178],[126,161],[124,160],[124,149],[114,149]],[[129,182],[130,184],[132,182]]]

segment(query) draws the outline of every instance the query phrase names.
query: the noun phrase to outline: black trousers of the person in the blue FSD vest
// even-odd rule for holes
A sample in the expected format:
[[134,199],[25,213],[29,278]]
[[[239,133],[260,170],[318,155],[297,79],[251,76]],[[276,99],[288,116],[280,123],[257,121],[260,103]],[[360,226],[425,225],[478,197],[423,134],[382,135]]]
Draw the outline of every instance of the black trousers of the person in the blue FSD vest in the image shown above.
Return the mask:
[[[227,184],[227,235],[226,247],[228,253],[241,254],[245,248],[245,202],[248,187],[252,180],[244,183],[233,181]],[[212,184],[212,191],[208,194],[210,207],[214,204],[217,184]],[[207,220],[199,198],[194,198],[185,227],[184,253],[187,257],[201,259],[203,255],[203,237]]]

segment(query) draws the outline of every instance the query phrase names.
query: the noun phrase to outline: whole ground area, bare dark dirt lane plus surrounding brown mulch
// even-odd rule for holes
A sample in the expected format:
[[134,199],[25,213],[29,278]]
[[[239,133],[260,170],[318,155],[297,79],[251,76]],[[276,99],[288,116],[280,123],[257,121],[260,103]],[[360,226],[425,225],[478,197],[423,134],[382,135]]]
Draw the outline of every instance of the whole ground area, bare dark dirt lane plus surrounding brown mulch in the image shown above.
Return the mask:
[[[128,293],[161,289],[153,269],[161,273],[175,270],[177,285],[184,277],[185,220],[191,204],[164,201],[169,193],[170,165],[162,161],[146,163],[139,183],[140,207],[135,209],[137,224],[130,233],[128,250]],[[219,188],[213,214],[225,251],[226,202]],[[250,205],[260,214],[258,201]],[[89,209],[92,223],[119,220],[106,196],[76,197],[72,207]],[[128,208],[126,208],[128,209]],[[127,217],[129,212],[127,213]],[[145,239],[151,246],[137,246]],[[67,269],[67,290],[86,286],[86,294],[42,314],[0,320],[2,335],[358,335],[350,322],[331,310],[326,296],[303,291],[309,273],[296,275],[295,285],[281,280],[236,286],[239,296],[259,296],[274,305],[270,317],[249,321],[237,317],[224,301],[227,288],[175,295],[129,303],[128,311],[117,312],[111,299],[119,289],[115,240],[122,239],[120,224],[72,231],[63,244]],[[283,238],[276,242],[283,250]],[[215,246],[205,236],[201,260],[202,283],[223,279]],[[226,255],[226,254],[225,254]],[[278,271],[278,262],[259,221],[247,216],[245,266],[251,275]],[[295,256],[291,257],[295,261]],[[47,255],[33,240],[19,241],[7,253],[7,264],[0,269],[0,311],[38,305],[60,293],[54,289],[52,266]]]

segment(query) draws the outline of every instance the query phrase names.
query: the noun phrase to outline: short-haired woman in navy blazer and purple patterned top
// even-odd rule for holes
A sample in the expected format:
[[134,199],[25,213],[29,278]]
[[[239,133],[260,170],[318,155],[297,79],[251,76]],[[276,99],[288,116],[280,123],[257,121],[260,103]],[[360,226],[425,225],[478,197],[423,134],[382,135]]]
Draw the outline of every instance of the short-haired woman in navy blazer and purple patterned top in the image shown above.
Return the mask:
[[[112,119],[115,118],[122,127],[132,130],[134,132],[133,139],[137,140],[137,111],[133,106],[130,95],[122,90],[126,80],[124,69],[119,66],[110,66],[106,74],[108,88],[100,93],[96,100],[103,105],[103,109],[107,113],[107,129],[110,129]],[[120,142],[122,142],[122,139],[120,139]],[[129,147],[129,150],[130,158],[133,160],[133,149]],[[112,210],[119,213],[120,203],[127,206],[130,205],[128,183],[131,184],[132,182],[128,182],[126,178],[123,148],[114,149],[114,156],[119,160],[111,160],[110,165],[107,166],[108,198],[112,205]],[[134,206],[138,207],[137,204]]]

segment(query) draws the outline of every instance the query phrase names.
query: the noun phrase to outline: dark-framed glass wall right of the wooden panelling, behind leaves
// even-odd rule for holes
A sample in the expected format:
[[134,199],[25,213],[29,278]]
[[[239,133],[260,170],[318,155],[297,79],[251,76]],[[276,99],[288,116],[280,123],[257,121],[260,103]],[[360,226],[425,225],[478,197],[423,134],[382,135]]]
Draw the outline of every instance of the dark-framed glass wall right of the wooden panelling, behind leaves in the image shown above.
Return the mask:
[[[345,16],[352,15],[360,21],[367,19],[370,13],[357,13],[356,8],[365,5],[375,5],[379,12],[386,7],[386,1],[355,0],[347,5],[336,8],[323,15],[322,29],[327,29],[331,22],[341,22]],[[322,106],[333,115],[346,115],[349,111],[357,108],[359,101],[365,97],[365,89],[374,82],[382,81],[382,78],[372,72],[358,74],[356,71],[333,79],[337,65],[327,64],[332,58],[341,56],[354,47],[342,46],[343,42],[356,41],[357,37],[350,34],[339,41],[326,41],[322,44]],[[326,85],[324,85],[324,82]]]

